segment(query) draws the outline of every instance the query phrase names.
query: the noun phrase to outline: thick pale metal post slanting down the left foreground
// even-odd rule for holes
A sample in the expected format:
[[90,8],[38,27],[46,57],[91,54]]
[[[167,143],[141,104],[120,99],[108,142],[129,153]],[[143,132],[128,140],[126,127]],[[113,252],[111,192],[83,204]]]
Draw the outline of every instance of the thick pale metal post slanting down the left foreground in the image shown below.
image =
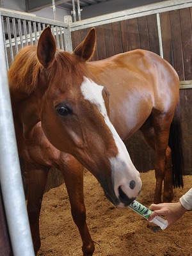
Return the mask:
[[[1,12],[0,12],[1,15]],[[20,174],[0,19],[0,182],[14,256],[35,256]]]

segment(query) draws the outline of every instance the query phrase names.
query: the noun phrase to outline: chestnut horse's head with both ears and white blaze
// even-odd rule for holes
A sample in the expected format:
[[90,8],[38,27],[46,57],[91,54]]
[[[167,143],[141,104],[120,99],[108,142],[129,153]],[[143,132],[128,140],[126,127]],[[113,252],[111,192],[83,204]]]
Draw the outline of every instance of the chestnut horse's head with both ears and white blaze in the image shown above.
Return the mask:
[[89,78],[86,61],[94,48],[95,29],[72,54],[56,50],[51,29],[44,29],[37,48],[40,119],[52,145],[76,157],[108,199],[126,207],[140,193],[140,174],[109,120],[108,91]]

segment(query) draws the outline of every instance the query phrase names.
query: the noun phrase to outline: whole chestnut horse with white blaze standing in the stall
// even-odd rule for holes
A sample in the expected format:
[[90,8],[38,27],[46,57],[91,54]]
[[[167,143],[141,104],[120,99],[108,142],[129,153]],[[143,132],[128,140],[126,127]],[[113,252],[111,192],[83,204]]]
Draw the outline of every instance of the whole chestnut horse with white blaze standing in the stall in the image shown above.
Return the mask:
[[113,204],[127,207],[140,193],[141,180],[122,140],[140,129],[156,150],[154,202],[161,202],[163,180],[164,202],[172,200],[173,186],[183,185],[177,73],[143,50],[88,62],[94,49],[95,29],[71,54],[56,49],[47,27],[37,47],[20,51],[8,72],[19,154],[28,164],[28,212],[36,253],[51,166],[63,173],[83,255],[92,255],[94,245],[86,227],[81,164]]

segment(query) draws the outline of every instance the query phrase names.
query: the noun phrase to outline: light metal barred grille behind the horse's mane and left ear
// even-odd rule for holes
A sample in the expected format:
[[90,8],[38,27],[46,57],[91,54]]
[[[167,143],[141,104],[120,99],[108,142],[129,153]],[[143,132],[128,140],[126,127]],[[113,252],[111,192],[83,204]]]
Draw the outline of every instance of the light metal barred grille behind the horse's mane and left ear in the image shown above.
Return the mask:
[[57,47],[63,51],[72,51],[70,29],[67,23],[6,9],[0,9],[0,11],[7,68],[10,67],[10,63],[20,49],[24,46],[37,44],[40,33],[47,26],[51,26]]

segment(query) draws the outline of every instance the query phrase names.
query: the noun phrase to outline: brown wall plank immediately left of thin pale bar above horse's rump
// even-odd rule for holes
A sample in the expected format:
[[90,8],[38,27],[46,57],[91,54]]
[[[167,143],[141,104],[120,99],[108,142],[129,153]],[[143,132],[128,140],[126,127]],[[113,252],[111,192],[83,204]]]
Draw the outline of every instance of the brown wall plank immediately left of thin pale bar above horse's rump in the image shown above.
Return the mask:
[[147,25],[148,25],[148,40],[149,40],[149,49],[152,52],[160,55],[159,50],[159,35],[157,28],[157,15],[148,15],[147,16]]

